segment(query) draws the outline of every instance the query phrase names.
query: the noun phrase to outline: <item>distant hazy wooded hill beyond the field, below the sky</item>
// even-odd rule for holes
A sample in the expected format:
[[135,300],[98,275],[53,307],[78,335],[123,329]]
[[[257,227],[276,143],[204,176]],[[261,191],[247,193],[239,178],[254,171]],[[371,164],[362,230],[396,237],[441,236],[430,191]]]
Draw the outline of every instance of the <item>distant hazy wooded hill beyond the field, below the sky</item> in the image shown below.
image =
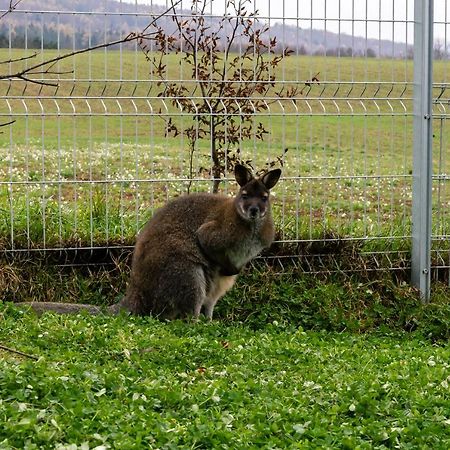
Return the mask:
[[[9,1],[1,0],[6,11]],[[79,49],[109,42],[142,30],[152,17],[165,11],[158,5],[136,5],[114,0],[24,0],[0,20],[0,47]],[[179,11],[189,16],[189,11]],[[208,19],[210,30],[217,30],[220,18]],[[167,33],[174,29],[170,16],[158,20]],[[261,23],[263,26],[263,23]],[[229,29],[219,33],[225,42]],[[390,40],[366,39],[344,33],[298,28],[271,23],[267,39],[276,38],[279,49],[288,47],[297,54],[404,58],[411,46]]]

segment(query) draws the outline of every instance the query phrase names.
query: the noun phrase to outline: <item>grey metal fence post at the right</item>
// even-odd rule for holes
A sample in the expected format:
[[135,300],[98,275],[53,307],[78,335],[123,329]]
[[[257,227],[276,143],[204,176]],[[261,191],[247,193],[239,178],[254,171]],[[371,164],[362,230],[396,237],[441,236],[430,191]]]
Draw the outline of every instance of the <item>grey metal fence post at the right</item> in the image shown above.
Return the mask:
[[414,154],[411,282],[430,298],[433,0],[414,2]]

